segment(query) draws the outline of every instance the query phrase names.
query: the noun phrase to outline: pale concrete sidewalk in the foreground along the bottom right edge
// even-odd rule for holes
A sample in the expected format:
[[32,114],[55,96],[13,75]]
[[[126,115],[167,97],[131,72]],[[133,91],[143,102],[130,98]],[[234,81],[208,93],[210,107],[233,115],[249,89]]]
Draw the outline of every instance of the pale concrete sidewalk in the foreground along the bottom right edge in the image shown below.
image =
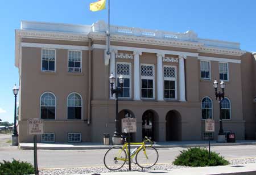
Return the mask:
[[170,171],[166,170],[151,170],[151,171],[131,171],[131,172],[113,172],[113,173],[99,173],[101,175],[145,175],[145,174],[179,174],[179,175],[203,175],[203,174],[256,174],[256,164],[245,165],[227,165],[218,167],[195,167],[195,168],[181,168]]

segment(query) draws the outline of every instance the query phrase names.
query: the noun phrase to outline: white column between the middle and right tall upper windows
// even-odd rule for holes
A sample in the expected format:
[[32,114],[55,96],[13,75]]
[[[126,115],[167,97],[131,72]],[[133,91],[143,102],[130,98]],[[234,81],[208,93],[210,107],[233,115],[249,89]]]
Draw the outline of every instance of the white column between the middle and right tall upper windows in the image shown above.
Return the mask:
[[164,54],[158,53],[156,54],[158,57],[158,100],[163,100],[163,57]]

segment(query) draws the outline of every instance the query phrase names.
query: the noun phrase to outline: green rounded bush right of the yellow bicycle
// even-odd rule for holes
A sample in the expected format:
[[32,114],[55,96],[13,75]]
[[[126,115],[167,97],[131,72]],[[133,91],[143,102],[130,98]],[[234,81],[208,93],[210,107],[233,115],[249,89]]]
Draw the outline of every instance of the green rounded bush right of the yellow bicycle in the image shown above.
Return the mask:
[[224,157],[212,151],[210,152],[209,160],[208,150],[205,148],[188,148],[188,150],[181,151],[180,155],[174,161],[174,165],[188,167],[208,167],[228,164],[229,162]]

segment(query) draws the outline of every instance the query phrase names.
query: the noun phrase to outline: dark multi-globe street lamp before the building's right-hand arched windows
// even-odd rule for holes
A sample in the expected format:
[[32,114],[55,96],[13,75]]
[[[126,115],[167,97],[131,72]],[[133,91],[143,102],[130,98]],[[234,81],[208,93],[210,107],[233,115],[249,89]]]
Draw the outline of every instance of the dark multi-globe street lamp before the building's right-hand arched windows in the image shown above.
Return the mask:
[[215,89],[216,100],[218,99],[218,103],[220,105],[220,130],[218,131],[218,142],[225,142],[225,134],[223,132],[222,116],[221,116],[221,100],[224,99],[224,97],[225,97],[225,94],[224,94],[225,83],[223,80],[221,80],[220,88],[222,89],[222,92],[221,91],[217,92],[217,89],[218,89],[217,80],[214,80],[213,87]]

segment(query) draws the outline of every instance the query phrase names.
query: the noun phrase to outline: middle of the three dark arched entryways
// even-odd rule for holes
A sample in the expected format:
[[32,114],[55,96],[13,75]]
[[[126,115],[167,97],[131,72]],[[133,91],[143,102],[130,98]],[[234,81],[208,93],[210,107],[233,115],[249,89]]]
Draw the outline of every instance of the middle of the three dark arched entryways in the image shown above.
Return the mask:
[[145,136],[152,140],[159,140],[159,121],[158,115],[154,110],[146,110],[142,115],[142,139]]

